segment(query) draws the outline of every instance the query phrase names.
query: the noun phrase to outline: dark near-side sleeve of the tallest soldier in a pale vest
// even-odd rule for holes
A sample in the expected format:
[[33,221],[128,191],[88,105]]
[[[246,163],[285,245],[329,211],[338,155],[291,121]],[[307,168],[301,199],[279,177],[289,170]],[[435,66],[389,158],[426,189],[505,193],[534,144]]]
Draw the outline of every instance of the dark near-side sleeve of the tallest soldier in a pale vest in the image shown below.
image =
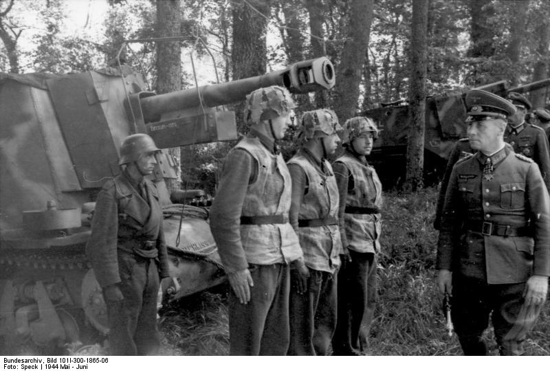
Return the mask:
[[255,160],[241,149],[232,150],[210,208],[210,229],[227,273],[248,268],[241,242],[241,212]]

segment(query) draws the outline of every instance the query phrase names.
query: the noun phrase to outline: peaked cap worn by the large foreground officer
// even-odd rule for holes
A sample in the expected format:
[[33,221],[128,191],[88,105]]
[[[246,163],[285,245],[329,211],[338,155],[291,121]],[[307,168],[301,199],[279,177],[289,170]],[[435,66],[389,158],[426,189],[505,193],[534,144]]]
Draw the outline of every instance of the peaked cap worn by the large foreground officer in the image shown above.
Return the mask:
[[466,93],[466,109],[472,118],[498,117],[505,119],[516,113],[516,106],[508,100],[485,90],[470,90]]

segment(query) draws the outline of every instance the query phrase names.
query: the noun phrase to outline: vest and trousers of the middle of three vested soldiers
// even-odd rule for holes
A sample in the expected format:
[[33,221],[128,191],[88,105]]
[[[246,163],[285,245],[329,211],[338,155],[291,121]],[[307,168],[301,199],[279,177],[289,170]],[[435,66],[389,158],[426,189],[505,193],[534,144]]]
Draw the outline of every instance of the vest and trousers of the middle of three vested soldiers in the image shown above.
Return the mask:
[[336,271],[342,242],[338,227],[338,186],[331,165],[307,149],[288,162],[292,176],[290,221],[298,233],[307,292],[290,290],[289,355],[326,355],[336,328]]

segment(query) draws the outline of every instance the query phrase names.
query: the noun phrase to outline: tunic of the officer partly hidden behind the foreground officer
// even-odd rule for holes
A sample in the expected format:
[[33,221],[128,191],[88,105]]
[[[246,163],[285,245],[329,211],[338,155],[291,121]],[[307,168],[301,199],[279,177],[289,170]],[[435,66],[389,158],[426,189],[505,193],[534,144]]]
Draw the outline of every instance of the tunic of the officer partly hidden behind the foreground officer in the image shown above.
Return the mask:
[[544,130],[526,122],[516,128],[508,125],[504,133],[504,141],[514,148],[515,153],[520,153],[536,162],[547,190],[550,190],[550,154],[548,137]]

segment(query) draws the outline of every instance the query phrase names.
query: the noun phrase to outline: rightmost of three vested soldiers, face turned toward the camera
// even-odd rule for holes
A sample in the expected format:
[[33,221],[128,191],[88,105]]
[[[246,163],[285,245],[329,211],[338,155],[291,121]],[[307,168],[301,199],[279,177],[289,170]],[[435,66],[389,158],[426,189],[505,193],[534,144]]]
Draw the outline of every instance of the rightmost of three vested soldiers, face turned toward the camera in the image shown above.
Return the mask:
[[376,303],[376,253],[380,249],[382,183],[366,161],[378,136],[369,117],[344,123],[344,154],[333,164],[340,194],[339,224],[344,247],[338,273],[338,324],[335,355],[366,352]]

